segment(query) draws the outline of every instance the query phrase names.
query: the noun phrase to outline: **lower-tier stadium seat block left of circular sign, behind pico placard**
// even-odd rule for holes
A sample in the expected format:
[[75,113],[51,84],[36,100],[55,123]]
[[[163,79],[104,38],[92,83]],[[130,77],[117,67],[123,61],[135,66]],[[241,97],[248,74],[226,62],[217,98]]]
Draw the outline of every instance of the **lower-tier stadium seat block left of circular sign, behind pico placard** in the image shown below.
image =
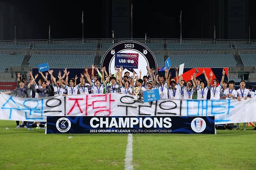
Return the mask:
[[51,68],[84,68],[94,64],[95,55],[85,54],[32,54],[29,66],[37,67],[39,63],[48,62]]

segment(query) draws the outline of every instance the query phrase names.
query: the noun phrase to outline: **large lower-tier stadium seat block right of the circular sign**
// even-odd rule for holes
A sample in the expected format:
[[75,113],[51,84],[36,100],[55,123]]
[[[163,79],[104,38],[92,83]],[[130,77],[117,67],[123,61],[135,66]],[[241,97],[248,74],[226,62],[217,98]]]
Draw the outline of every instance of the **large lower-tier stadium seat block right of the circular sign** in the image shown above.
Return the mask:
[[173,66],[186,63],[186,67],[226,67],[237,64],[232,54],[174,54],[170,59]]

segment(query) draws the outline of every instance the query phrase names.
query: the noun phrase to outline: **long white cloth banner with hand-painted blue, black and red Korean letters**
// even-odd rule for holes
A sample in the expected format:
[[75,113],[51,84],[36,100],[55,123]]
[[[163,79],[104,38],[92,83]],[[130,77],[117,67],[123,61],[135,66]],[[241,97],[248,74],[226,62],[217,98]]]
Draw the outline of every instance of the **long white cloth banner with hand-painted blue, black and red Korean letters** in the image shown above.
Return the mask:
[[0,119],[46,121],[46,116],[215,116],[216,124],[256,121],[256,97],[247,100],[133,101],[133,95],[87,94],[19,98],[0,94]]

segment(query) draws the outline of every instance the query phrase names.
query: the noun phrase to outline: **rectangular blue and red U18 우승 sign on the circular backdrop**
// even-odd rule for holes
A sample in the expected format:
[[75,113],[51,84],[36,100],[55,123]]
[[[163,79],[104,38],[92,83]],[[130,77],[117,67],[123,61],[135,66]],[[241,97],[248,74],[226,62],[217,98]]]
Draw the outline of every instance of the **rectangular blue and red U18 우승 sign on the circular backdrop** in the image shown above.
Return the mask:
[[119,53],[115,55],[115,67],[137,69],[139,64],[139,54],[136,53]]

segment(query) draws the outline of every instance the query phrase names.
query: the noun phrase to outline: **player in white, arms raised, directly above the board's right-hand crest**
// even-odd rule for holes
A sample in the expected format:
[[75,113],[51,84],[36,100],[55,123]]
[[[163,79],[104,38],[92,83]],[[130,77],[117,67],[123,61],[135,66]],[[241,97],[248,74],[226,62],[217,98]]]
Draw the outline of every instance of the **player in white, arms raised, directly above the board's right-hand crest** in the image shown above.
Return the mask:
[[197,91],[197,99],[198,100],[206,100],[207,99],[207,92],[209,90],[209,87],[210,87],[210,82],[212,80],[212,75],[213,73],[210,72],[210,81],[208,80],[207,78],[207,75],[205,74],[205,71],[203,70],[203,75],[205,76],[205,80],[207,82],[207,86],[205,87],[205,82],[202,81],[200,79],[200,83],[198,85],[198,80],[196,79],[196,74],[193,75],[194,77],[194,82],[196,82],[197,86],[196,86],[196,91]]

